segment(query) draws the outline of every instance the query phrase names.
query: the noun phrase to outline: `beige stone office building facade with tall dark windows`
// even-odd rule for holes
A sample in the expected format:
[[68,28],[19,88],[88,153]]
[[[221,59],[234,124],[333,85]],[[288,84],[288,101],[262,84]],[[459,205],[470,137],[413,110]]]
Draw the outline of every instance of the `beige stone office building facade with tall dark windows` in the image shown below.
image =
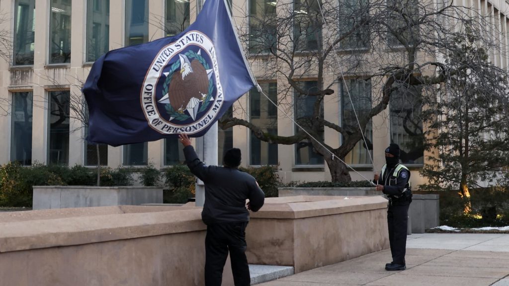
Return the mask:
[[[0,11],[6,15],[0,29],[12,36],[12,54],[9,62],[0,63],[0,98],[5,114],[0,117],[1,146],[0,163],[18,161],[23,165],[35,162],[94,166],[100,158],[101,165],[145,166],[149,163],[162,168],[183,162],[182,148],[177,139],[132,144],[121,147],[87,144],[86,106],[81,98],[81,86],[93,62],[111,49],[145,43],[157,38],[173,36],[183,31],[196,18],[202,7],[200,0],[7,0],[0,2]],[[231,11],[242,22],[249,15],[252,22],[260,14],[276,15],[275,2],[260,0],[233,0]],[[268,5],[268,6],[267,6]],[[297,4],[296,4],[297,5]],[[509,19],[499,12],[505,11],[507,3],[497,1],[477,2],[479,9],[495,15],[494,24],[507,34]],[[257,7],[265,7],[257,10]],[[273,8],[271,8],[273,7]],[[247,12],[246,12],[247,11]],[[256,37],[256,35],[255,35]],[[509,41],[502,35],[505,43]],[[256,39],[253,39],[253,41]],[[269,39],[270,40],[270,39]],[[348,46],[349,42],[342,45]],[[319,45],[304,42],[305,47]],[[244,47],[248,52],[256,45]],[[266,78],[263,58],[251,59],[254,74],[272,101],[281,96],[284,78]],[[492,55],[492,61],[507,68],[507,56]],[[332,75],[331,75],[332,76]],[[370,80],[349,79],[346,84],[350,94],[355,95],[355,110],[362,112],[371,108],[372,93],[377,89]],[[331,80],[326,78],[325,80]],[[316,81],[310,77],[302,82],[312,89]],[[348,100],[344,84],[335,88],[333,95],[324,100],[323,115],[341,126],[356,122],[342,120],[353,118],[354,111]],[[415,91],[417,92],[417,91]],[[311,112],[309,97],[294,94],[290,116],[297,119]],[[346,157],[365,178],[373,178],[374,171],[385,163],[384,150],[391,141],[400,144],[405,154],[403,162],[418,170],[427,155],[413,150],[412,132],[405,128],[403,118],[397,111],[401,106],[412,106],[415,118],[420,103],[411,97],[393,95],[389,108],[373,118],[366,128],[365,136],[371,148],[364,148],[362,141]],[[359,111],[360,110],[360,111]],[[268,133],[281,136],[296,132],[292,120],[274,106],[265,96],[253,90],[242,97],[231,110],[242,118],[265,127]],[[422,122],[414,122],[422,132]],[[330,146],[341,145],[339,133],[324,129],[323,138]],[[315,154],[309,142],[295,145],[274,145],[260,141],[242,126],[218,131],[218,158],[229,148],[242,150],[243,166],[278,165],[284,182],[327,181],[330,174],[323,157]],[[368,152],[369,151],[369,152]],[[97,155],[99,154],[99,156]],[[370,158],[371,156],[371,158]],[[363,180],[350,173],[353,180]],[[412,173],[414,185],[423,183],[417,171]]]

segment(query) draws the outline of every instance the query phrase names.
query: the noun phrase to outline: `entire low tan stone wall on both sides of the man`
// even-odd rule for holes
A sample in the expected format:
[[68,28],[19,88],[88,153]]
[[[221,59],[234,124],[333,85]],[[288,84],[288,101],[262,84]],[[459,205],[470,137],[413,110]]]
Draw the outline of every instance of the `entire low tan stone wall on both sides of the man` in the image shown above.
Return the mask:
[[[250,264],[295,272],[388,247],[380,196],[267,198],[246,230]],[[0,213],[0,284],[204,285],[201,208],[116,206]],[[223,285],[233,285],[230,263]]]

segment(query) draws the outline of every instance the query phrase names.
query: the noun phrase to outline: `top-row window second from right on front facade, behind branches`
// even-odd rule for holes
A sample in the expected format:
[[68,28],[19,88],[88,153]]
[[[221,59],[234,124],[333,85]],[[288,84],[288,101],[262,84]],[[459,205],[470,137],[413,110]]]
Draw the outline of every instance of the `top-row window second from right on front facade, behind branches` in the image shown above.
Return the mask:
[[[340,43],[343,49],[360,49],[369,47],[370,33],[363,22],[369,18],[369,0],[341,0],[340,1],[340,33],[351,33]],[[360,25],[360,26],[359,26]]]

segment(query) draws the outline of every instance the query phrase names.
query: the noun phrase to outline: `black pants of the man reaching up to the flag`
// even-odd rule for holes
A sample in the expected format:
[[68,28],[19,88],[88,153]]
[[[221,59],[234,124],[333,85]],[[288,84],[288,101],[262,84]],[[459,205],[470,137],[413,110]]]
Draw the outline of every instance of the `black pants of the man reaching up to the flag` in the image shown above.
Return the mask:
[[246,222],[211,223],[205,238],[205,286],[220,286],[230,251],[235,286],[251,283],[246,258]]

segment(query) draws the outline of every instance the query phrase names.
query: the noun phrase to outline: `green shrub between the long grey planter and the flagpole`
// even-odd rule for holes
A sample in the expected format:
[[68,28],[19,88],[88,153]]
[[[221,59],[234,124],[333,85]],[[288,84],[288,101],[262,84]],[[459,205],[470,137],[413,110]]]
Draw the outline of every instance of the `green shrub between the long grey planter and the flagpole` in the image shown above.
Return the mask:
[[186,165],[175,165],[164,170],[163,202],[166,204],[185,204],[194,197],[194,175]]

